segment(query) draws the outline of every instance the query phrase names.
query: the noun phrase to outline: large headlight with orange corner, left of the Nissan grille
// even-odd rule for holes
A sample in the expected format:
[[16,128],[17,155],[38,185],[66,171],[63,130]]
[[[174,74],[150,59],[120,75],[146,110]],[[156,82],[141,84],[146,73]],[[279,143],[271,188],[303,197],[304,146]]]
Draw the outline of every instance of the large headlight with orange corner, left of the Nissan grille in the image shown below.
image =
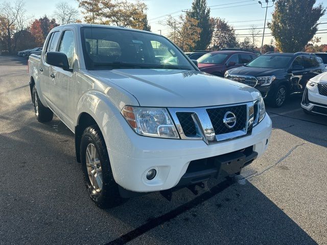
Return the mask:
[[177,130],[165,108],[125,106],[122,115],[140,135],[178,139]]

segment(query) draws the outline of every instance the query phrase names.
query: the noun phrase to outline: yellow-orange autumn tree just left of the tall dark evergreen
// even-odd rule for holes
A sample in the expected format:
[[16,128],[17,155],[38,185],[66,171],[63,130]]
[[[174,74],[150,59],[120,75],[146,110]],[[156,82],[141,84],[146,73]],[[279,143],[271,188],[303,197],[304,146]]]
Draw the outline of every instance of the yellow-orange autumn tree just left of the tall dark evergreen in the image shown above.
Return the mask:
[[168,38],[184,52],[193,51],[199,40],[201,30],[197,27],[197,23],[198,20],[189,15],[180,15],[178,19],[169,16],[165,22],[160,22],[170,30]]

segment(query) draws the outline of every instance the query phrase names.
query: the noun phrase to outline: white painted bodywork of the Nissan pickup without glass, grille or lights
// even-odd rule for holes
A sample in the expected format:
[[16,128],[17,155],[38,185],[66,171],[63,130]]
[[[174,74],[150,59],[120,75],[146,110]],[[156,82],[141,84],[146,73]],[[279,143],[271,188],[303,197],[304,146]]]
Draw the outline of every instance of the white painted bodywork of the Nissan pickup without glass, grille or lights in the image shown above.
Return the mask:
[[[271,134],[268,115],[253,128],[251,135],[212,145],[202,140],[137,135],[120,113],[125,105],[219,106],[254,101],[260,93],[252,87],[198,70],[85,70],[80,38],[80,27],[83,25],[55,28],[55,31],[60,31],[56,46],[62,31],[72,26],[77,37],[73,72],[49,66],[49,70],[44,72],[43,69],[43,81],[37,76],[39,72],[35,72],[35,68],[45,67],[42,54],[41,61],[31,58],[30,75],[36,82],[40,99],[43,95],[46,98],[41,99],[41,102],[49,106],[73,132],[81,113],[88,113],[95,119],[108,148],[114,179],[121,186],[134,191],[169,189],[178,183],[192,160],[237,151],[251,145],[259,156],[266,150],[266,140]],[[51,71],[56,73],[53,80],[50,78]],[[144,175],[152,167],[158,170],[158,177],[153,182],[145,181]]]

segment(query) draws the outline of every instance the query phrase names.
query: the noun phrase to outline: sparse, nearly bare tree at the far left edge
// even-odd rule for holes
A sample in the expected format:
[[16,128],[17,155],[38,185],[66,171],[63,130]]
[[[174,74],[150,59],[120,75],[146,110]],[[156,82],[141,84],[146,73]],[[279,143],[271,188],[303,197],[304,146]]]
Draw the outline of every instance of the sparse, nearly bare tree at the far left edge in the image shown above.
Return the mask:
[[7,48],[8,53],[11,53],[11,37],[17,30],[17,19],[22,20],[25,14],[24,0],[17,0],[12,6],[10,3],[5,2],[0,6],[0,15],[3,17],[7,30]]

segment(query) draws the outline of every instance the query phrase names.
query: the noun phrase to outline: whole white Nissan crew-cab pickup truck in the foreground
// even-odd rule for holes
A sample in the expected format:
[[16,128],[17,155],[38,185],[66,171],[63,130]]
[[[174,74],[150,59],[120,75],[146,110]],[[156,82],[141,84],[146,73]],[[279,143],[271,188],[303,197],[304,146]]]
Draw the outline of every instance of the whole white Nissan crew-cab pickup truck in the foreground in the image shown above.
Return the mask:
[[260,92],[196,64],[164,36],[93,24],[54,28],[41,55],[31,55],[36,118],[56,114],[75,133],[98,206],[194,190],[240,174],[266,150],[271,120]]

